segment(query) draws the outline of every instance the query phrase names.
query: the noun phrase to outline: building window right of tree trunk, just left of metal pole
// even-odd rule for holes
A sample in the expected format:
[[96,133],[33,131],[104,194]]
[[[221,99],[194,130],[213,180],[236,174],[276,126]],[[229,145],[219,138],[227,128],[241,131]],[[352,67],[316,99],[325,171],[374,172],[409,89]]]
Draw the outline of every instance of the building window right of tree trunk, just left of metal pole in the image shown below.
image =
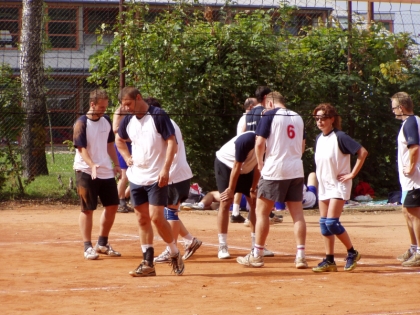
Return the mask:
[[95,34],[97,30],[102,30],[105,24],[105,32],[112,32],[118,19],[118,9],[85,9],[84,32],[85,34]]

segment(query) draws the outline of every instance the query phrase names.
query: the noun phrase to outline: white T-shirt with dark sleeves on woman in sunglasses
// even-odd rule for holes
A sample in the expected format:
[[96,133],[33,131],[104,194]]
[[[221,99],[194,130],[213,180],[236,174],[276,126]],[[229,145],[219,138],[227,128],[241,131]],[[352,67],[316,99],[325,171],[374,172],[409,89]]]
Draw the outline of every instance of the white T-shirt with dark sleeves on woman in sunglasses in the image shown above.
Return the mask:
[[328,135],[321,133],[317,136],[315,163],[319,200],[350,199],[353,182],[340,182],[337,176],[351,172],[350,154],[356,154],[361,147],[350,136],[337,129],[333,129]]

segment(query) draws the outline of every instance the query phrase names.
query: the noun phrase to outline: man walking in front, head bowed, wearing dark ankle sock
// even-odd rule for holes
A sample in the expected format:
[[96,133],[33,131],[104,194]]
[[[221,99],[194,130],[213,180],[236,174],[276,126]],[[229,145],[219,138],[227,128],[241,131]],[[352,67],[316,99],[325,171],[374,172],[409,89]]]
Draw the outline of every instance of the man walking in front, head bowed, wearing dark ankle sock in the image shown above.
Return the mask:
[[[164,215],[164,207],[168,203],[169,171],[178,149],[174,126],[164,110],[148,105],[134,87],[125,87],[121,91],[121,104],[132,114],[125,116],[121,122],[116,143],[128,165],[131,202],[143,251],[140,265],[129,274],[133,277],[156,275],[153,222],[167,243],[175,275],[182,275],[184,262]],[[125,144],[127,141],[131,141],[132,154]]]

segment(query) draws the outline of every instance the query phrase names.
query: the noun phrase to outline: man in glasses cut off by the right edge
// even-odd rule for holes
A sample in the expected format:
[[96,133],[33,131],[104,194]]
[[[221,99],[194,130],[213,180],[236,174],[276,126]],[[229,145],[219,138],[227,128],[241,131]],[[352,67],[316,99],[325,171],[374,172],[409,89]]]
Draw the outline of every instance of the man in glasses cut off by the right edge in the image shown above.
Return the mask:
[[420,118],[414,115],[414,104],[405,92],[391,97],[395,118],[403,121],[398,134],[398,174],[402,189],[402,211],[407,223],[411,245],[397,259],[405,267],[420,266],[420,204],[407,204],[407,193],[420,188]]

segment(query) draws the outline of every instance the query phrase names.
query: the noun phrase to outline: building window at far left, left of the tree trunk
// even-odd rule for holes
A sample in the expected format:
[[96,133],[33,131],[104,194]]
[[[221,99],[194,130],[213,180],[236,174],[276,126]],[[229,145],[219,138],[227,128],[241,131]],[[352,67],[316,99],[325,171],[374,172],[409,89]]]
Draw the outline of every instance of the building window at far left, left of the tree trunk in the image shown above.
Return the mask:
[[20,36],[20,8],[2,7],[0,10],[0,49],[16,49]]

